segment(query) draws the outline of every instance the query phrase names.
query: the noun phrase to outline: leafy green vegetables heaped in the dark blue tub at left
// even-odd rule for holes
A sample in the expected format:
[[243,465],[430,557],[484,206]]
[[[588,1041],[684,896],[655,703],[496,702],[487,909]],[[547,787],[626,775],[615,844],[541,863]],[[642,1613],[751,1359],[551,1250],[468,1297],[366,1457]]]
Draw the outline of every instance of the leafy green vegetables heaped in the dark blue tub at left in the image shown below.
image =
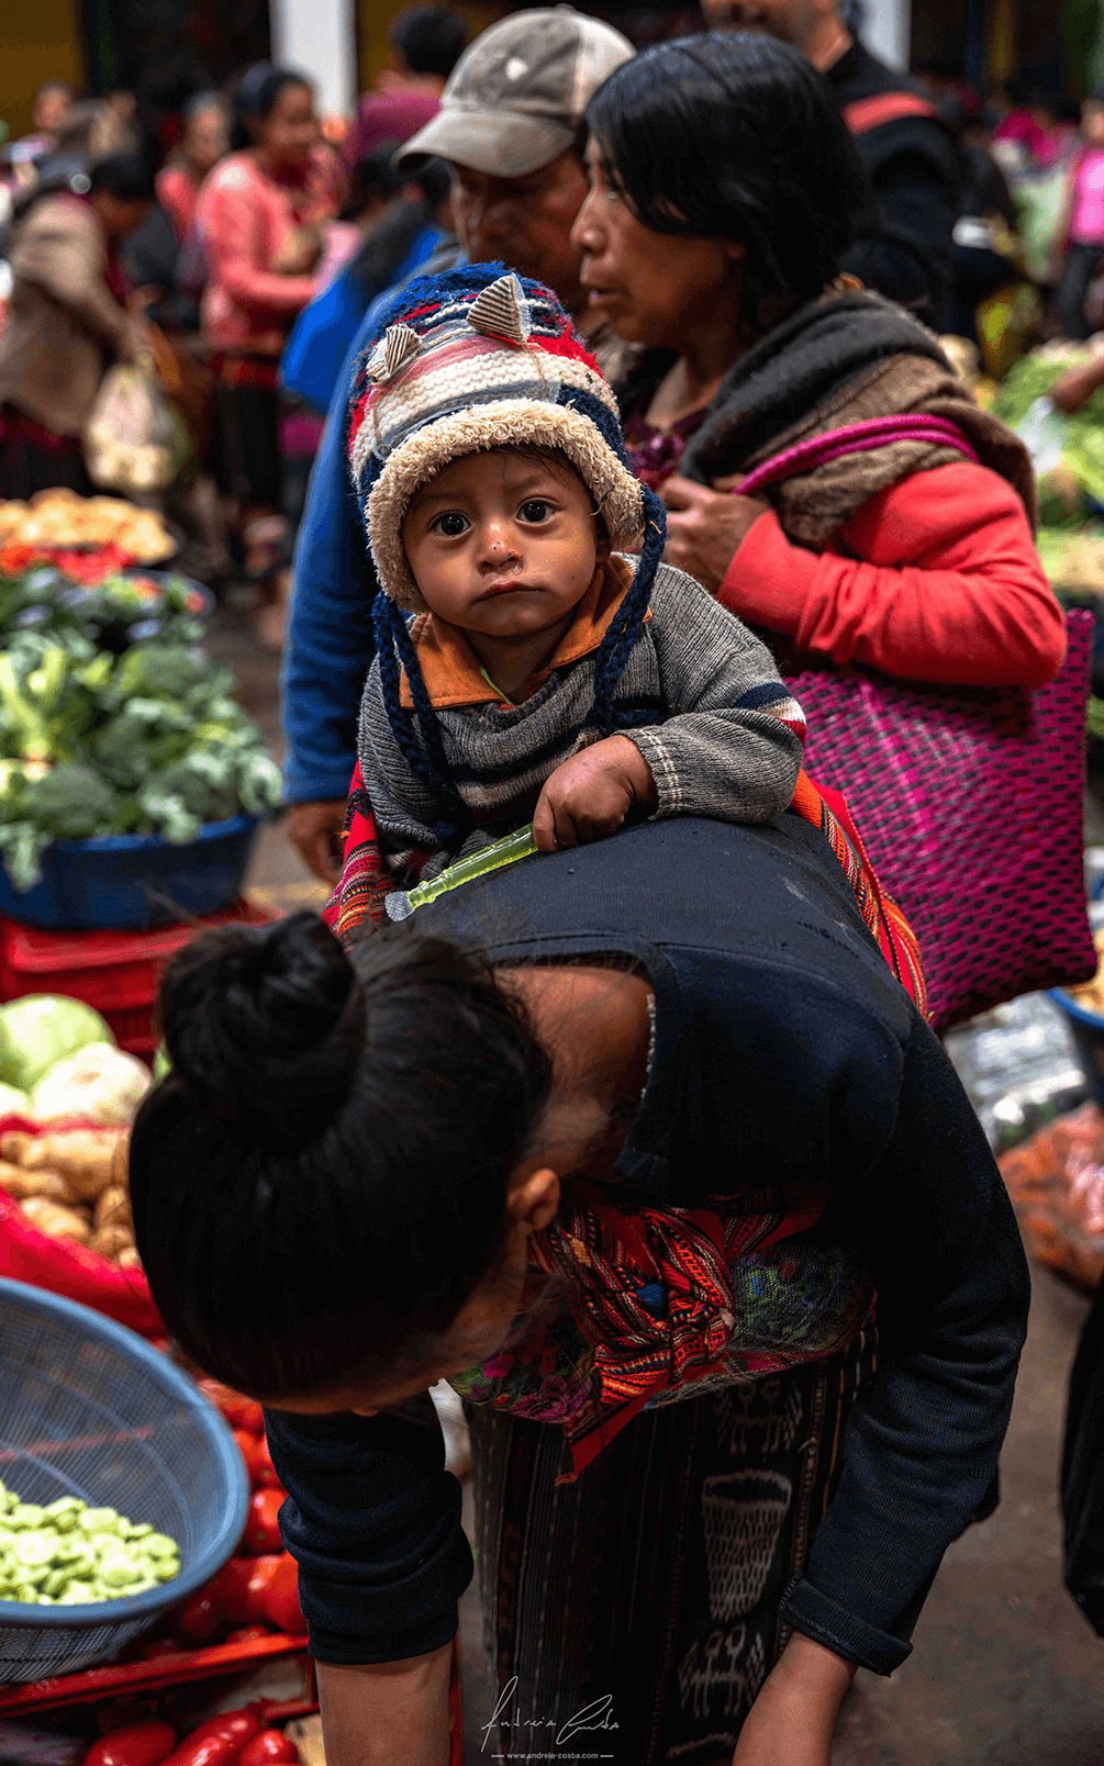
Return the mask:
[[228,669],[189,645],[122,655],[83,632],[16,630],[0,650],[0,857],[25,894],[53,841],[161,834],[279,804],[279,768],[231,698]]

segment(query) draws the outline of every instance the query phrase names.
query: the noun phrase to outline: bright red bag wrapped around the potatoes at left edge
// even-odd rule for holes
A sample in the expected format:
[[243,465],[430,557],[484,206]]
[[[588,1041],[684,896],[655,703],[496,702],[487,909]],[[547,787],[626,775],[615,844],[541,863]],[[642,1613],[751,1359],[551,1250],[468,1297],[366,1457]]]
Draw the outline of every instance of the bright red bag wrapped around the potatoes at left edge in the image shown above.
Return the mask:
[[[65,1127],[78,1132],[90,1125],[81,1121]],[[0,1136],[11,1130],[42,1134],[41,1125],[26,1116],[2,1116]],[[0,1275],[78,1300],[120,1324],[129,1324],[143,1337],[164,1337],[164,1323],[140,1268],[118,1268],[88,1245],[51,1238],[26,1219],[14,1196],[4,1189],[0,1189]]]

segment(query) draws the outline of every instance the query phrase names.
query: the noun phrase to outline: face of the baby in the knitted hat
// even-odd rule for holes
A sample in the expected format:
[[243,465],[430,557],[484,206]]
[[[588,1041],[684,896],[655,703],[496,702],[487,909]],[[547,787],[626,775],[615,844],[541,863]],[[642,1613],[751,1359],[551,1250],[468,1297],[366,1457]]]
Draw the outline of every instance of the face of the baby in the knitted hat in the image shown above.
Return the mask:
[[465,454],[415,491],[403,547],[431,613],[488,638],[562,623],[608,551],[578,473],[510,449]]

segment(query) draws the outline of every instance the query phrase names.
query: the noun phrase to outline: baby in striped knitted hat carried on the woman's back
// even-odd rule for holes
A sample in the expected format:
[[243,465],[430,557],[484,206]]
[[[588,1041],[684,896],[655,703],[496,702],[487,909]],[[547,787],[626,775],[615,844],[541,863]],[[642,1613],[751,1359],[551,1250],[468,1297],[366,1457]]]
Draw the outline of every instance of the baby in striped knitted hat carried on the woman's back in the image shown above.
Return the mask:
[[627,816],[781,816],[800,706],[661,563],[662,505],[556,297],[472,265],[389,320],[350,417],[382,588],[353,800],[383,872],[406,887],[530,818],[553,851]]

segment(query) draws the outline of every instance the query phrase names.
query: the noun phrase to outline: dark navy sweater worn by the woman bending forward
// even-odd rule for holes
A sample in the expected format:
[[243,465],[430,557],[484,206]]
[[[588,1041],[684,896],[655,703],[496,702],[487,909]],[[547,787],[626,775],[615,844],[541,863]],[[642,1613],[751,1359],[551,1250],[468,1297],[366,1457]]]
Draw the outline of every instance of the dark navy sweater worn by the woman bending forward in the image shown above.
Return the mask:
[[[733,1171],[830,1183],[821,1226],[857,1243],[874,1277],[881,1362],[784,1614],[890,1672],[991,1483],[1028,1275],[957,1075],[827,842],[793,814],[763,828],[645,823],[502,871],[417,922],[479,941],[496,962],[639,959],[657,1035],[616,1166],[634,1190],[692,1206]],[[268,1413],[268,1438],[314,1655],[387,1662],[447,1642],[470,1554],[431,1415]]]

